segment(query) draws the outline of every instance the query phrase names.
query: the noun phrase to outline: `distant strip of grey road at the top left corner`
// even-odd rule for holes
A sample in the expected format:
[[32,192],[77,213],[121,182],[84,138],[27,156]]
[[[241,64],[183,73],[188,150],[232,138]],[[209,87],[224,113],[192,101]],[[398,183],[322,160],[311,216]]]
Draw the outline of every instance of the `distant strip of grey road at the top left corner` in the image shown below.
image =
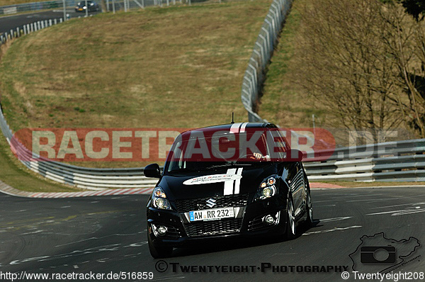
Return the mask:
[[[78,18],[79,16],[84,17],[86,13],[76,13],[73,9],[67,9],[70,18]],[[100,12],[91,12],[89,15],[96,15]],[[18,26],[26,25],[27,23],[33,23],[36,21],[44,21],[50,18],[62,18],[64,15],[63,10],[52,10],[38,13],[26,13],[16,16],[3,16],[0,17],[0,34],[17,28]]]

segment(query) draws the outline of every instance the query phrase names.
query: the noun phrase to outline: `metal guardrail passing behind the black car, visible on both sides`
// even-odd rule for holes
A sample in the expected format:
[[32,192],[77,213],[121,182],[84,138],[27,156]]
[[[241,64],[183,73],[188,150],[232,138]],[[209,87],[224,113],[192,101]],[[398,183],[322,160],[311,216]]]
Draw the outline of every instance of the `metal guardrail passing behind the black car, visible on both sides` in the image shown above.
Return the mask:
[[[47,159],[39,162],[35,159],[40,156],[13,138],[1,108],[0,127],[18,159],[47,179],[86,189],[147,188],[157,183],[157,179],[144,176],[142,167],[94,169]],[[326,160],[305,162],[305,170],[310,181],[425,181],[424,152],[425,139],[339,148]],[[329,155],[329,152],[322,151],[317,152],[317,156],[321,153]]]

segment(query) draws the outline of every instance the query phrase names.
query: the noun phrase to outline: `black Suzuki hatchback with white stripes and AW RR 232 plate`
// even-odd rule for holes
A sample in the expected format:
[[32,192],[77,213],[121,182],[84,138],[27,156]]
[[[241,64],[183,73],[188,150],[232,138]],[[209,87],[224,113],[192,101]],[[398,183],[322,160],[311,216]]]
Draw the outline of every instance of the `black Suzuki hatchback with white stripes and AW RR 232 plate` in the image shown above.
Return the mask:
[[298,222],[312,224],[302,154],[271,123],[232,123],[188,130],[176,138],[147,203],[154,258],[190,242],[246,235],[293,239]]

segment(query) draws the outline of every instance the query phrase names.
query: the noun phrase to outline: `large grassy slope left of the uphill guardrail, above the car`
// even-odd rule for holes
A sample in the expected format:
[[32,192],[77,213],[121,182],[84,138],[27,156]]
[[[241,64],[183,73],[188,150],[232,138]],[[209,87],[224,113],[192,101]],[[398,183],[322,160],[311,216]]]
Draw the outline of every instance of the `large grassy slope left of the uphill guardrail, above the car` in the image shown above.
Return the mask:
[[[271,1],[100,14],[16,40],[0,64],[13,130],[246,120],[240,87]],[[79,110],[76,110],[79,108]]]

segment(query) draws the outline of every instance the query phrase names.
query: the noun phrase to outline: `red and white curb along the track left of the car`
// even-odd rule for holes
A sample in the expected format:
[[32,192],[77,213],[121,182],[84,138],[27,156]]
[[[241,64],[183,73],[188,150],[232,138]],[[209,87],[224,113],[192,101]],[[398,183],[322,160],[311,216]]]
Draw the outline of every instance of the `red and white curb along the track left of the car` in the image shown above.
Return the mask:
[[96,191],[81,191],[81,192],[26,192],[21,191],[4,182],[0,181],[0,192],[11,196],[21,196],[26,198],[77,198],[90,196],[116,196],[116,195],[150,195],[154,188],[124,188],[124,189],[105,189]]

